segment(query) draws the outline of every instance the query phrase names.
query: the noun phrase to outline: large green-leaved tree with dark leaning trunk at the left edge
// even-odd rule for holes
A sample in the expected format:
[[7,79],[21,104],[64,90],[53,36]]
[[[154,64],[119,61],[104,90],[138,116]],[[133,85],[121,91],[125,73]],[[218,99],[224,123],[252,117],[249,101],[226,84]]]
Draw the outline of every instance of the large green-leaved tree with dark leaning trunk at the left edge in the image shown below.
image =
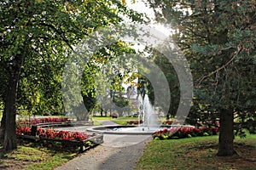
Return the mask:
[[[133,11],[129,13],[127,11],[127,8],[116,0],[0,2],[0,43],[3,47],[0,49],[1,65],[5,65],[5,71],[9,72],[4,77],[8,86],[1,91],[4,104],[3,123],[1,123],[4,124],[5,131],[4,150],[9,151],[17,147],[15,115],[20,75],[26,70],[28,75],[24,77],[29,78],[31,72],[27,67],[29,65],[25,63],[38,62],[38,67],[48,67],[50,63],[51,69],[54,66],[51,65],[53,60],[56,65],[63,65],[74,44],[89,35],[91,31],[121,21],[119,13],[136,19]],[[59,63],[58,59],[60,59]],[[48,62],[44,63],[45,60]],[[58,76],[60,75],[54,74],[54,78]],[[32,81],[35,81],[35,78],[32,78]],[[52,83],[46,81],[48,82]],[[44,99],[46,95],[50,95],[46,93],[46,89],[40,88],[38,91],[40,92],[38,94],[42,94],[43,91]],[[59,95],[57,94],[56,97],[59,98]]]

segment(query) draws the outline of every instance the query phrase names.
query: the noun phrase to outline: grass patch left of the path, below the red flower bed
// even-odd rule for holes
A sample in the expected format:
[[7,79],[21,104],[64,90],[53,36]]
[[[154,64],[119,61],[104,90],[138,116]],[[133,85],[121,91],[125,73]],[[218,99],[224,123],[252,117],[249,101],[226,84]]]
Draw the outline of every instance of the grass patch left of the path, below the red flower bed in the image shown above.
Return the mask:
[[51,170],[79,155],[76,149],[67,150],[53,144],[32,143],[20,139],[17,150],[3,154],[1,147],[1,170]]

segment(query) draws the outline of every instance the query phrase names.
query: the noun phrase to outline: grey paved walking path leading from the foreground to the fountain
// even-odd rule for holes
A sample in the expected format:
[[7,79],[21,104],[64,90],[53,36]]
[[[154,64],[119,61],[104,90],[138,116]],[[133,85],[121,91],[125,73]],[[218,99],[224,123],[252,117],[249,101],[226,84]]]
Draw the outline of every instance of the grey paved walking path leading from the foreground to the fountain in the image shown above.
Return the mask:
[[[113,125],[112,122],[105,122]],[[82,131],[81,127],[76,127]],[[104,134],[104,143],[85,151],[55,170],[131,170],[151,135]]]

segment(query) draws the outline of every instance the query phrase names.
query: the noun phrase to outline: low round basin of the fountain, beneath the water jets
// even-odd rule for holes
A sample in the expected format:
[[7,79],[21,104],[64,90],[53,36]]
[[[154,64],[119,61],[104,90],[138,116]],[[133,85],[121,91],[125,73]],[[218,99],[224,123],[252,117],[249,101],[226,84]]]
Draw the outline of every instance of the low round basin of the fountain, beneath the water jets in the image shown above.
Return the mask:
[[160,127],[140,127],[140,126],[122,126],[122,125],[109,125],[89,127],[86,129],[89,133],[105,133],[105,134],[123,134],[123,135],[152,135],[154,132],[163,128],[172,127],[193,127],[189,125],[165,125]]

